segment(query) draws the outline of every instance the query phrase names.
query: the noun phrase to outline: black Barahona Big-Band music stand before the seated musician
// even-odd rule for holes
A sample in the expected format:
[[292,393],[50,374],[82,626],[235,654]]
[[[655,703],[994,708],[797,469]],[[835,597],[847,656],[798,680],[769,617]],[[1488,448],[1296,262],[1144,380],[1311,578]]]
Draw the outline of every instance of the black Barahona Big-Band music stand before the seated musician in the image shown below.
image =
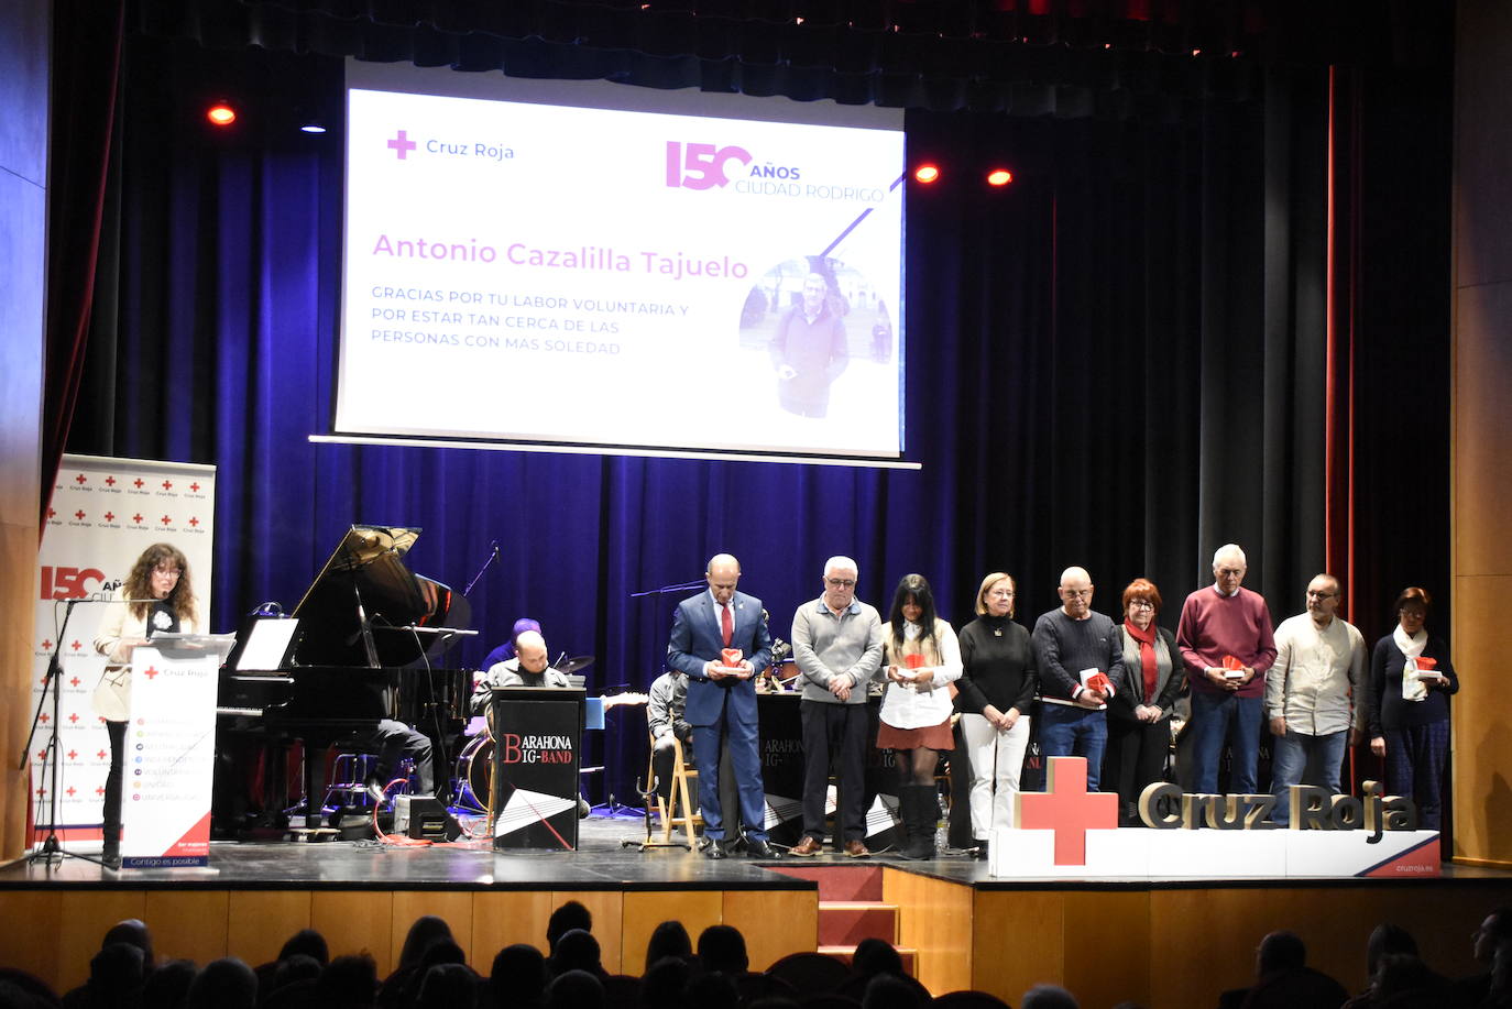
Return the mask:
[[578,767],[587,691],[503,687],[488,702],[493,731],[493,849],[575,850]]

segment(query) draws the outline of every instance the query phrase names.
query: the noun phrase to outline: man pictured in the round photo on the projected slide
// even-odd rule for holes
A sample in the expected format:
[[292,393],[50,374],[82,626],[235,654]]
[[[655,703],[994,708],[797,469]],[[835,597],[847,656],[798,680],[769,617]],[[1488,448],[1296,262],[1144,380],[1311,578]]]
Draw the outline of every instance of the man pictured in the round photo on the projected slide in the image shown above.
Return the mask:
[[830,383],[845,371],[850,352],[845,324],[830,306],[830,283],[823,274],[803,278],[803,300],[783,313],[768,349],[782,408],[803,418],[826,416]]

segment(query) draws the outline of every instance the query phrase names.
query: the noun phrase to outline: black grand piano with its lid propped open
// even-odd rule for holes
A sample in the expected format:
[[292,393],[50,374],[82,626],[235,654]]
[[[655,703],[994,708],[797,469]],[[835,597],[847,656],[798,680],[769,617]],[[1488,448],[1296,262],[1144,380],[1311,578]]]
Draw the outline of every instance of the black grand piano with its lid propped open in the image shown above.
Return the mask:
[[[351,526],[293,611],[299,625],[286,664],[233,669],[233,655],[222,670],[216,749],[243,758],[262,750],[262,802],[233,782],[225,788],[260,805],[269,826],[278,826],[289,805],[284,756],[293,741],[304,753],[307,827],[319,826],[328,812],[322,809],[327,750],[361,740],[383,719],[407,722],[431,737],[437,782],[446,781],[446,743],[461,726],[472,676],[438,669],[432,660],[469,634],[461,628],[470,607],[460,593],[405,567],[404,555],[419,534]],[[234,781],[245,770],[230,767],[224,776]],[[228,812],[239,818],[240,811]]]

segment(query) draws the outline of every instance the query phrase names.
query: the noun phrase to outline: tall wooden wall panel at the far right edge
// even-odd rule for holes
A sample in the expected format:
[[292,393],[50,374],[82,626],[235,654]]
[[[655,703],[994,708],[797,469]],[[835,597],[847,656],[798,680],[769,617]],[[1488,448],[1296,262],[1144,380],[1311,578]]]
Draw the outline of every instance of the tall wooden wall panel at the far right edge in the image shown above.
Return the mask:
[[1455,32],[1455,855],[1512,865],[1512,725],[1492,687],[1512,585],[1512,5],[1459,0]]

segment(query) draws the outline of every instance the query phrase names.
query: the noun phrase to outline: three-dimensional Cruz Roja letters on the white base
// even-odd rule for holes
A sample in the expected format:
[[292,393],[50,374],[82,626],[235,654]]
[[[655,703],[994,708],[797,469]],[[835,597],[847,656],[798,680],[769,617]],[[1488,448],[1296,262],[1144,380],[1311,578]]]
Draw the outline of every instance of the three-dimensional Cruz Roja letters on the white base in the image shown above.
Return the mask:
[[[1411,799],[1387,796],[1377,782],[1367,781],[1365,797],[1335,796],[1328,788],[1293,785],[1293,830],[1368,830],[1368,844],[1380,841],[1382,830],[1417,830],[1417,806]],[[1275,796],[1201,796],[1184,793],[1170,782],[1155,782],[1139,797],[1139,815],[1157,830],[1272,830]]]

